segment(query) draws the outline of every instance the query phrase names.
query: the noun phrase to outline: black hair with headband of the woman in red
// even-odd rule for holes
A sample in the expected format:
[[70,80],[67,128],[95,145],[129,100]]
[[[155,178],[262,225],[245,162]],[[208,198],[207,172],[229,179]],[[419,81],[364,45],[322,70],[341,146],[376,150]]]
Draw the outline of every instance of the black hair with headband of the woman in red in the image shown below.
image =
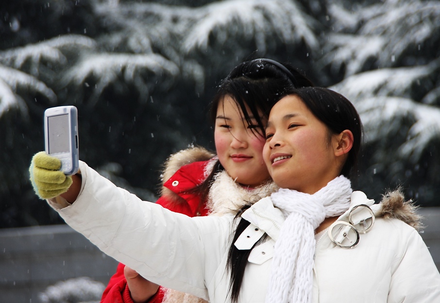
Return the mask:
[[[273,105],[285,96],[292,88],[313,86],[313,83],[304,75],[287,63],[279,63],[271,59],[255,59],[238,64],[229,75],[221,81],[209,110],[209,118],[215,124],[217,109],[223,98],[230,96],[249,124],[253,124],[251,116],[257,122],[258,129],[252,131],[265,135],[267,120]],[[251,115],[246,109],[248,106]],[[259,111],[262,113],[260,116]],[[220,161],[215,164],[211,174],[194,189],[201,197],[201,203],[206,201],[214,176],[224,170]]]

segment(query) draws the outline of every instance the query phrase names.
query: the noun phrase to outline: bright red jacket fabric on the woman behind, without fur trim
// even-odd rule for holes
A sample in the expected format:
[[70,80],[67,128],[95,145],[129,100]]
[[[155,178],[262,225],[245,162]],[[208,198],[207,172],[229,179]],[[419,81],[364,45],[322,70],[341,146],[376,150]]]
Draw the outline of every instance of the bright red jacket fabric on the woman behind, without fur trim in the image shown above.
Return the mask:
[[[176,203],[166,196],[160,197],[156,204],[159,204],[174,212],[185,214],[189,217],[206,216],[207,209],[200,207],[200,197],[188,191],[199,185],[203,179],[203,171],[206,161],[193,162],[182,166],[164,186],[174,191],[182,197],[186,203]],[[102,294],[101,303],[133,303],[130,296],[130,290],[127,286],[127,280],[124,275],[125,265],[118,264],[116,273],[110,278],[107,287]],[[148,303],[162,303],[165,288],[159,287],[156,294],[148,301]]]

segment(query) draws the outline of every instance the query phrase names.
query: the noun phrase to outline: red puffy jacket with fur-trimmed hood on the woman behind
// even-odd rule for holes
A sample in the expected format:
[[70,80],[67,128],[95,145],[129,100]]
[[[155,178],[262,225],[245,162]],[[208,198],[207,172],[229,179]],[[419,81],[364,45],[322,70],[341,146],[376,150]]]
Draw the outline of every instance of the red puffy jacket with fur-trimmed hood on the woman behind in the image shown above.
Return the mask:
[[[179,156],[174,157],[177,155]],[[186,157],[188,155],[190,157]],[[167,170],[173,170],[172,167],[182,162],[182,159],[185,160],[184,162],[188,162],[194,158],[209,159],[213,155],[204,149],[196,147],[179,152],[174,156],[166,163],[165,180],[167,178]],[[178,159],[177,161],[176,158]],[[180,167],[180,169],[163,184],[161,197],[156,203],[169,210],[180,212],[190,217],[206,216],[207,209],[205,208],[205,201],[201,201],[201,198],[197,194],[190,192],[190,190],[203,182],[205,179],[205,168],[209,162],[209,160],[196,161]],[[116,273],[110,278],[102,294],[101,303],[133,303],[127,286],[127,280],[124,276],[124,267],[124,264],[118,264]],[[156,294],[148,302],[161,303],[163,297],[164,289],[163,287],[159,287]]]

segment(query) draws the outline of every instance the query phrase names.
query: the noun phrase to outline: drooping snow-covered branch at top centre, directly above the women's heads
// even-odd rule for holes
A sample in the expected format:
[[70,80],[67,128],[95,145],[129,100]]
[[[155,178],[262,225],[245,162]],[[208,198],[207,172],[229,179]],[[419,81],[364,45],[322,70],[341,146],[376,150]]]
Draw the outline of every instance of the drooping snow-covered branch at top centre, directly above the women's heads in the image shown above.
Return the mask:
[[283,43],[299,43],[310,49],[318,46],[313,32],[314,21],[295,1],[285,0],[226,0],[197,9],[199,21],[189,29],[183,48],[206,50],[213,34],[220,44],[243,35],[254,39],[257,48],[265,52],[267,40],[277,36]]

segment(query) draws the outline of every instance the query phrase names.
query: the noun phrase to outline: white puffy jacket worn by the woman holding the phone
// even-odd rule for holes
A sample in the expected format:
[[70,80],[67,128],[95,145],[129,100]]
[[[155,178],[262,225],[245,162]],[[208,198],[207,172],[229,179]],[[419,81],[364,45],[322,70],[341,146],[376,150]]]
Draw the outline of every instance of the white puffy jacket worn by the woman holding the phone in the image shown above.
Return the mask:
[[[84,162],[80,170],[83,185],[75,203],[49,201],[66,223],[152,282],[212,303],[230,302],[226,261],[237,223],[233,215],[189,218],[141,202]],[[239,302],[264,302],[284,216],[270,198],[246,212],[264,214],[253,223],[269,237],[249,256]],[[242,238],[261,236],[255,233]],[[439,271],[417,231],[400,220],[377,218],[354,249],[334,245],[324,233],[315,255],[315,303],[440,303]]]

